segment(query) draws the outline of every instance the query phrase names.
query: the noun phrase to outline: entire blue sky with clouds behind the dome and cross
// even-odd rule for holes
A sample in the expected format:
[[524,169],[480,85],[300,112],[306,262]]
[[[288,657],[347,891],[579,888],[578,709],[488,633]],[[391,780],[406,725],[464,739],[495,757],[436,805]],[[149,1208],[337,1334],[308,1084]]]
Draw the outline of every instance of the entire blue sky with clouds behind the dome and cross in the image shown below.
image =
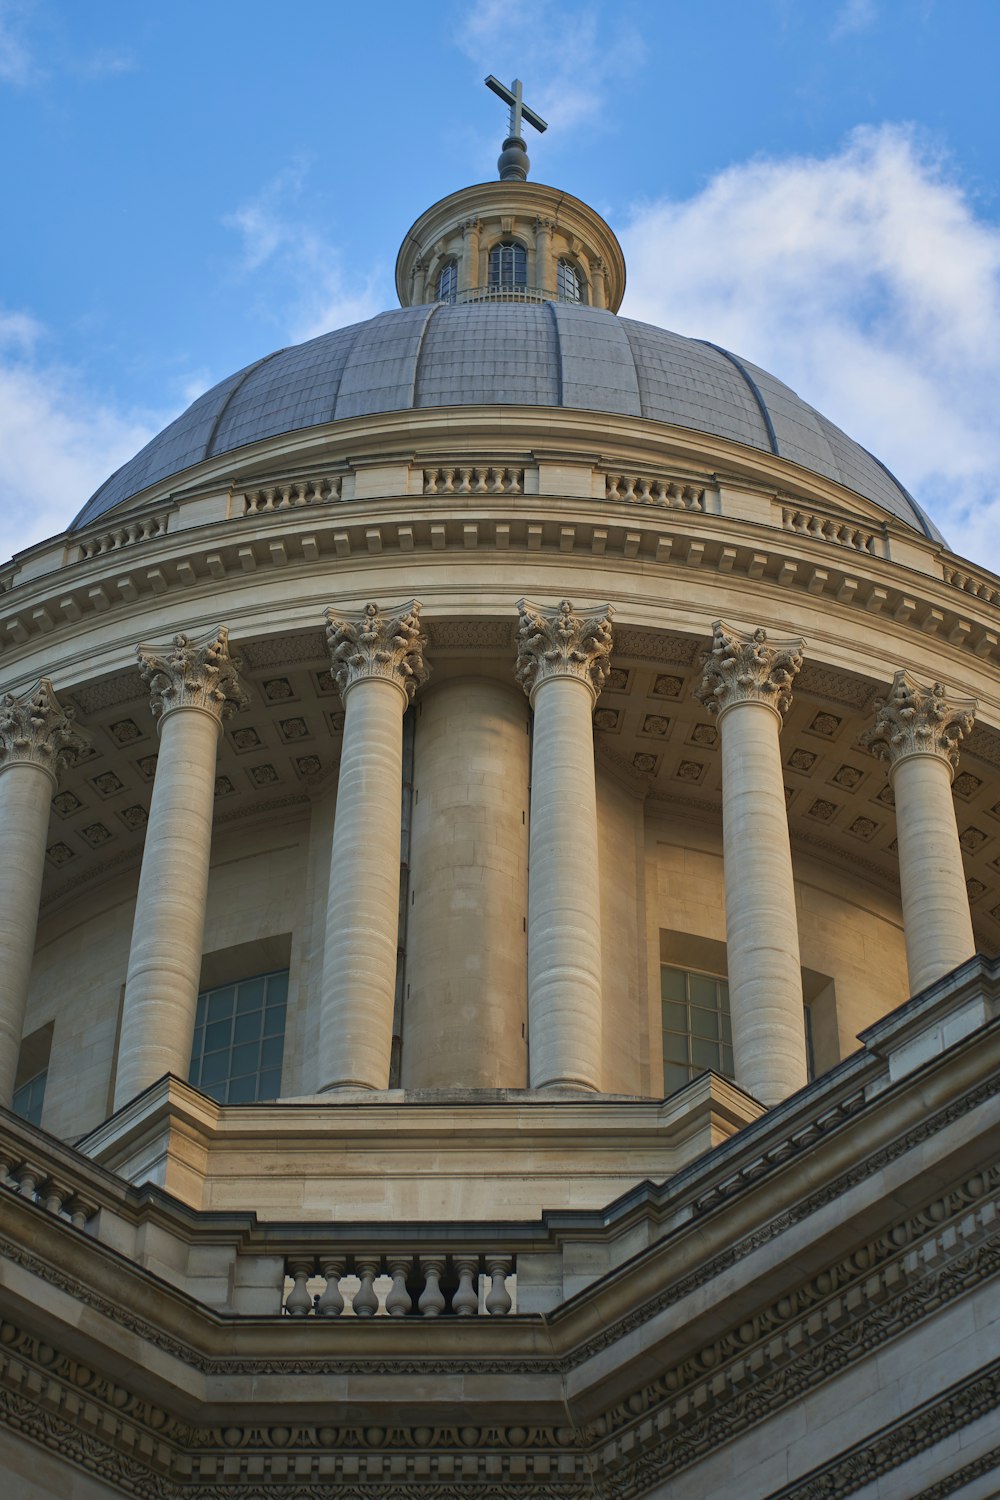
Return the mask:
[[205,386],[393,306],[432,201],[532,176],[624,312],[726,344],[1000,568],[1000,0],[0,0],[0,552]]

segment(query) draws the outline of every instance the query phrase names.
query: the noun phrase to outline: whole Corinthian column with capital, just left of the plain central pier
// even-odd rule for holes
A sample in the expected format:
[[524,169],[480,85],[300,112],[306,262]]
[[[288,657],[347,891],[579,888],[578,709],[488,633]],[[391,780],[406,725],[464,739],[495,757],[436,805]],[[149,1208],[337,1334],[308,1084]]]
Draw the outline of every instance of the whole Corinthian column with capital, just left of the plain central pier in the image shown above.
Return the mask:
[[403,711],[426,681],[420,604],[327,610],[343,748],[333,825],[319,1088],[388,1088],[399,934]]

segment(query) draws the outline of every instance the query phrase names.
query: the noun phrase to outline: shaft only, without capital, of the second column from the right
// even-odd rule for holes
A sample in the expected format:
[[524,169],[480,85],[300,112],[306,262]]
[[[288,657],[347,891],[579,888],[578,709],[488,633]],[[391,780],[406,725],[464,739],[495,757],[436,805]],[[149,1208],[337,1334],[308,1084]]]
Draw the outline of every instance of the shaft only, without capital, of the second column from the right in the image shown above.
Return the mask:
[[736,1080],[763,1104],[807,1082],[799,933],[777,712],[720,716],[726,945]]

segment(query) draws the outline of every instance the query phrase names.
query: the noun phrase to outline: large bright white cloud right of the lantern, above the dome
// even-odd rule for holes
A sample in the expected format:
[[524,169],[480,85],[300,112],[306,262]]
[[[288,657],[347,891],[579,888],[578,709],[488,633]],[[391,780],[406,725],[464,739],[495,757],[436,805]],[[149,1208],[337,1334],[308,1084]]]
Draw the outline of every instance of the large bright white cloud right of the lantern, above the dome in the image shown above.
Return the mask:
[[622,240],[624,314],[772,370],[1000,572],[1000,228],[912,130],[732,166]]

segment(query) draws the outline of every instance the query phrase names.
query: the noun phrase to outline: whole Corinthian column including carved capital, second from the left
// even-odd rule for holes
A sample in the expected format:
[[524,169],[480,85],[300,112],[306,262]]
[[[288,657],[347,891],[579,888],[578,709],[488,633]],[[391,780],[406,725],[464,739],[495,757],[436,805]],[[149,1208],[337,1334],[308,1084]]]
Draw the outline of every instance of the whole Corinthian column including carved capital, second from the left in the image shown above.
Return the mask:
[[225,626],[138,646],[160,748],[135,903],[114,1107],[165,1072],[187,1077],[211,858],[222,720],[249,702]]

